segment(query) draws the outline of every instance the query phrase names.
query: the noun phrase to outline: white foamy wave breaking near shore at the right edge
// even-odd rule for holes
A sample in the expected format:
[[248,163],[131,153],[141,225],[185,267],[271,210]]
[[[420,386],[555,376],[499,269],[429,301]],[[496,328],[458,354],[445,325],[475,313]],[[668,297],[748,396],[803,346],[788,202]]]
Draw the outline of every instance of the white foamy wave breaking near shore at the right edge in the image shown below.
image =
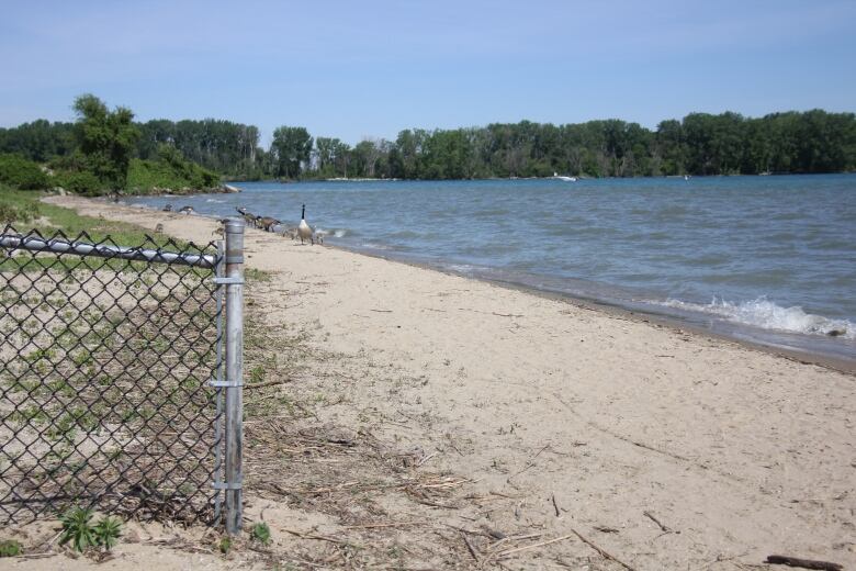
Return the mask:
[[734,323],[763,329],[856,339],[856,324],[847,320],[831,320],[822,315],[806,313],[802,307],[797,305],[782,307],[763,296],[742,303],[713,299],[707,305],[679,300],[667,300],[657,304],[677,310],[714,314]]

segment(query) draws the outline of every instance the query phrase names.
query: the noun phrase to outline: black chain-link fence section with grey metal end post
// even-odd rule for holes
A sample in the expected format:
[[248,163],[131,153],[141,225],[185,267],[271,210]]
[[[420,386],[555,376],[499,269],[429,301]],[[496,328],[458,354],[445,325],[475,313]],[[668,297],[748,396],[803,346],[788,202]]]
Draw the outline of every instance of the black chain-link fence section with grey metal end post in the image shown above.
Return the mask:
[[223,496],[239,522],[241,314],[226,324],[224,298],[240,304],[243,279],[225,251],[3,229],[0,524],[70,505],[217,524]]

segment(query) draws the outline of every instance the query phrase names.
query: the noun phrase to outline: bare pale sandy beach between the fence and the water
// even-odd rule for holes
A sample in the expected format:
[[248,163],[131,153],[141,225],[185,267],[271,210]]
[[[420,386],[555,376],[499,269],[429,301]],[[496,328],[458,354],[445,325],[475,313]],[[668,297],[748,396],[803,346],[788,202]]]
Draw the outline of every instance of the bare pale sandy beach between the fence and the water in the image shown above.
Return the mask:
[[[214,237],[202,217],[54,200]],[[260,231],[247,246],[249,267],[277,272],[270,325],[421,380],[367,378],[349,398],[430,462],[513,499],[483,522],[574,529],[640,570],[770,553],[856,564],[854,376]],[[415,428],[396,428],[405,418]],[[547,551],[536,567],[590,548]]]

